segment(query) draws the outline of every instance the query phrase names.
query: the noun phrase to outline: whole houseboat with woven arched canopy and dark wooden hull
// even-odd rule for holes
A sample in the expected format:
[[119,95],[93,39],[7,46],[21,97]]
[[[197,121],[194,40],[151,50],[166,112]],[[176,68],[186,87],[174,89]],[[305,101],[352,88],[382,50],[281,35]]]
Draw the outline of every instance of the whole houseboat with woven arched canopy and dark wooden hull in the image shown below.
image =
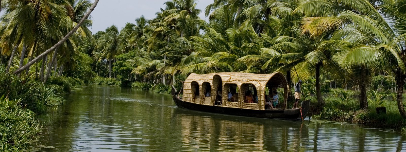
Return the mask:
[[[279,89],[283,92],[283,103],[279,109],[265,109],[266,92]],[[183,91],[182,91],[183,90]],[[302,120],[310,107],[310,101],[303,101],[300,109],[286,109],[287,83],[282,73],[192,73],[182,88],[183,97],[172,87],[172,98],[181,108],[270,119]],[[180,92],[180,93],[181,93]],[[249,92],[253,92],[251,96]],[[250,96],[248,102],[246,96]]]

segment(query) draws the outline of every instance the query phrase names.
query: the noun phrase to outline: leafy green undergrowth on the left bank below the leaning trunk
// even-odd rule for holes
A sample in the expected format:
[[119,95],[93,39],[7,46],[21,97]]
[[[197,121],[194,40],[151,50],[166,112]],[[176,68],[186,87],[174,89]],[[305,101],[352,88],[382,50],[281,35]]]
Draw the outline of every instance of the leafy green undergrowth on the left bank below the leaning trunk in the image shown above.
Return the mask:
[[35,115],[64,101],[58,93],[62,86],[34,79],[0,68],[0,151],[29,150],[43,128]]

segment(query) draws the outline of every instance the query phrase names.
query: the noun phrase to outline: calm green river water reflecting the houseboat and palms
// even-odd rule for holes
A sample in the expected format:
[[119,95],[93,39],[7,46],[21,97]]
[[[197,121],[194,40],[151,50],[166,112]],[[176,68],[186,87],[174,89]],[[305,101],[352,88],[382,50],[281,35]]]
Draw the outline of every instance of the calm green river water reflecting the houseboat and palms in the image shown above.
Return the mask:
[[406,136],[353,124],[268,120],[180,109],[170,95],[110,86],[69,94],[35,151],[406,151]]

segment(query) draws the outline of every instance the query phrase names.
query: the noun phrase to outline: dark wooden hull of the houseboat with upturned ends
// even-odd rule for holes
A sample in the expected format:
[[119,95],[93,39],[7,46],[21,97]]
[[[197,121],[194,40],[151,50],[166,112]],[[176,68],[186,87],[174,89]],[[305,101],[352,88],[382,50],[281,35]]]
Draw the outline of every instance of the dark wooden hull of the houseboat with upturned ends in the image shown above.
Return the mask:
[[[257,117],[257,118],[268,118],[268,119],[287,119],[287,120],[302,120],[306,118],[307,113],[310,108],[310,101],[303,101],[301,109],[266,109],[266,110],[255,110],[255,109],[242,109],[242,108],[231,108],[222,107],[217,105],[201,105],[196,103],[190,103],[182,101],[181,98],[177,96],[177,91],[172,87],[172,98],[178,107],[190,110],[205,111],[212,113],[222,113],[236,116],[247,116],[247,117]],[[302,110],[300,112],[300,110]]]

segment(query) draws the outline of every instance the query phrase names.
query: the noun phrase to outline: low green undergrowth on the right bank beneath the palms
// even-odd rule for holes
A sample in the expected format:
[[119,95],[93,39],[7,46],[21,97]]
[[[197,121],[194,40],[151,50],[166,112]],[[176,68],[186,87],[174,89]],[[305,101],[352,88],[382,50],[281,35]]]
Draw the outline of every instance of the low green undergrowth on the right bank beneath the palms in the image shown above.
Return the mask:
[[[313,119],[390,128],[406,133],[406,120],[400,115],[397,102],[390,94],[370,92],[368,109],[359,107],[359,101],[354,97],[353,91],[333,90],[330,94],[324,99],[325,105],[322,108],[311,107],[310,112],[313,113]],[[318,105],[314,97],[309,98],[312,101],[311,105]],[[378,113],[377,107],[385,107],[386,113]]]

